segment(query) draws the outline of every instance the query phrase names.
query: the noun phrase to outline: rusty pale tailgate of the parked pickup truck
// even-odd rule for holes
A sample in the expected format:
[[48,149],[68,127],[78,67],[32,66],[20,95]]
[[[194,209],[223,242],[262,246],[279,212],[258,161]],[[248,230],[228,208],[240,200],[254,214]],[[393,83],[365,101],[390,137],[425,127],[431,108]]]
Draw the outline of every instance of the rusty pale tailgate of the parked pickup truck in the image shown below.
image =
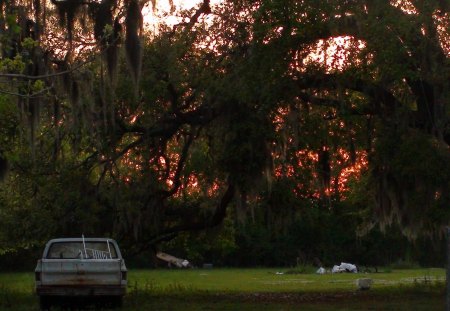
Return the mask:
[[44,286],[120,285],[120,259],[42,259]]

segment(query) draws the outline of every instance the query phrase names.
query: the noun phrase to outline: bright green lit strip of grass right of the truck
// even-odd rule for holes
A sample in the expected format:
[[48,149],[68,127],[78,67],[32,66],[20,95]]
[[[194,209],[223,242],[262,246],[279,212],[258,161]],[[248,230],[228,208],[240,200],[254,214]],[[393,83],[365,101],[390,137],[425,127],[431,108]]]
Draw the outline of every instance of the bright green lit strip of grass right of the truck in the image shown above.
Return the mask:
[[[322,292],[356,288],[358,278],[372,278],[375,288],[445,281],[443,269],[396,270],[373,274],[286,274],[285,269],[141,270],[130,273],[130,286],[152,291],[173,289],[208,292]],[[283,274],[278,274],[283,273]]]

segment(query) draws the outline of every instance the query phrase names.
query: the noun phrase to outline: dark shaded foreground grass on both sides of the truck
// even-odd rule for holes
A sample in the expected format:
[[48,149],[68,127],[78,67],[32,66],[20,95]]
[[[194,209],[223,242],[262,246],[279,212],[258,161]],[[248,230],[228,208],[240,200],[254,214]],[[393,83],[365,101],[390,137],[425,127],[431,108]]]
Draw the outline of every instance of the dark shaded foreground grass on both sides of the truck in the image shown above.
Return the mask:
[[[444,297],[444,282],[422,279],[412,285],[369,291],[308,293],[221,293],[195,290],[177,283],[162,288],[146,282],[130,284],[122,310],[443,310]],[[0,310],[39,310],[38,299],[31,289],[14,290],[0,284]]]

